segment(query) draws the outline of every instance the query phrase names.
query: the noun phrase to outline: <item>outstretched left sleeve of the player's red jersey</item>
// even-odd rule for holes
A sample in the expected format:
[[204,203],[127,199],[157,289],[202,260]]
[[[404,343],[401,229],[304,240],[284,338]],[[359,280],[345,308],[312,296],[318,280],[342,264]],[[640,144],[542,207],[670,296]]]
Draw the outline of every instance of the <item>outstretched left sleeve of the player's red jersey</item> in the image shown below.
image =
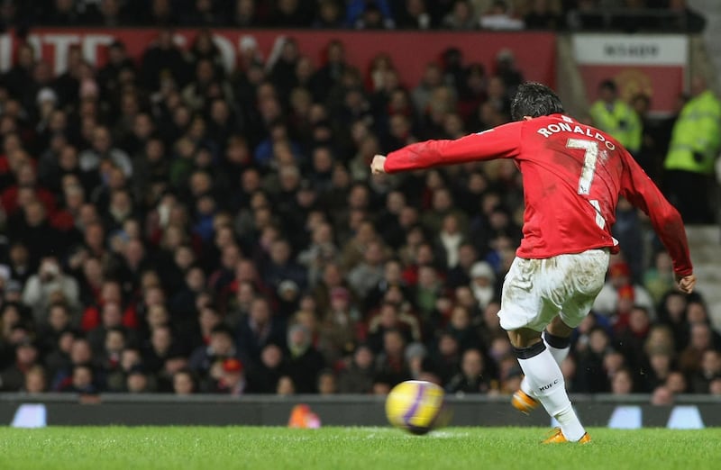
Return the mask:
[[518,154],[523,122],[511,122],[457,140],[426,140],[390,152],[384,169],[388,173],[423,169]]

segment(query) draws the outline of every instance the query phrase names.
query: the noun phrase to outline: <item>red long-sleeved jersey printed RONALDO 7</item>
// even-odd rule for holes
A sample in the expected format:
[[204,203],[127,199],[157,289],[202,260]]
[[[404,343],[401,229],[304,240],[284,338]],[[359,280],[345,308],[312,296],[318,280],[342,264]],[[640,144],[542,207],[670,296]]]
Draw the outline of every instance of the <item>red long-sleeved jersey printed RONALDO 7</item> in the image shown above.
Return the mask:
[[511,122],[458,140],[428,140],[388,154],[385,170],[513,158],[524,178],[521,258],[609,248],[622,194],[646,212],[680,276],[692,273],[686,231],[634,158],[603,131],[563,114]]

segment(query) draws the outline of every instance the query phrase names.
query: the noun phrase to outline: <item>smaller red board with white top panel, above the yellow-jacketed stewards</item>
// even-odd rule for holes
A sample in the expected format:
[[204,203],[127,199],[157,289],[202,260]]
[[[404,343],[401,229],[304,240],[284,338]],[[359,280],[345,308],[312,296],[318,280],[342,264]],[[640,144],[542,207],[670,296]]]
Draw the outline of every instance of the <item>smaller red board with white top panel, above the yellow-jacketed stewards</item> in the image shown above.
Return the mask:
[[621,97],[651,98],[653,113],[671,113],[684,90],[688,66],[688,38],[682,35],[576,34],[574,58],[591,101],[598,84],[616,82]]

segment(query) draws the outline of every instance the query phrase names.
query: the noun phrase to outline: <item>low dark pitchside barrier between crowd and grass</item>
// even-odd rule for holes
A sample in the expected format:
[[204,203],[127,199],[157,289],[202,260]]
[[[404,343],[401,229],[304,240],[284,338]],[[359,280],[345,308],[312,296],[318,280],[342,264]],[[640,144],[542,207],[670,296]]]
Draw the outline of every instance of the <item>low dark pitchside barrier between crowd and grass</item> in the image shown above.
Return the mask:
[[[575,396],[574,406],[588,426],[617,429],[663,427],[700,429],[721,426],[721,397],[680,395],[674,404],[649,404],[648,395]],[[447,397],[452,426],[549,426],[543,411],[524,416],[507,397]],[[285,426],[290,411],[306,403],[323,425],[385,426],[384,397],[368,395],[0,395],[0,422],[15,427],[43,426]]]

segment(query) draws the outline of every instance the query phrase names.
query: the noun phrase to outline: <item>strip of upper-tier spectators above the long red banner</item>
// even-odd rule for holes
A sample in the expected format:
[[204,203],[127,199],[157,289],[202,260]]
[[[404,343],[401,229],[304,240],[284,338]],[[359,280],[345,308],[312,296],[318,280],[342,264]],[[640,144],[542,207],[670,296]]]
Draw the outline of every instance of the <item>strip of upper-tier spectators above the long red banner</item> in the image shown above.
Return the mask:
[[692,31],[686,0],[4,0],[0,24]]

